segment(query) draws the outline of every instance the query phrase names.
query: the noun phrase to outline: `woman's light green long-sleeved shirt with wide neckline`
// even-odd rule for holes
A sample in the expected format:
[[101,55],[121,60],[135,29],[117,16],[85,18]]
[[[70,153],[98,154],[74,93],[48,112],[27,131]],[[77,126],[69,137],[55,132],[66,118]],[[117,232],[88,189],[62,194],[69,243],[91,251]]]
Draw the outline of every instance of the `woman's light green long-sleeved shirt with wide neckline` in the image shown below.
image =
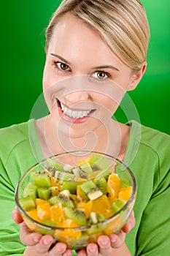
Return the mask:
[[[125,163],[137,181],[136,225],[126,235],[132,255],[170,255],[170,136],[129,123]],[[15,187],[23,173],[43,159],[34,120],[0,129],[0,255],[23,255],[19,225],[12,221]]]

